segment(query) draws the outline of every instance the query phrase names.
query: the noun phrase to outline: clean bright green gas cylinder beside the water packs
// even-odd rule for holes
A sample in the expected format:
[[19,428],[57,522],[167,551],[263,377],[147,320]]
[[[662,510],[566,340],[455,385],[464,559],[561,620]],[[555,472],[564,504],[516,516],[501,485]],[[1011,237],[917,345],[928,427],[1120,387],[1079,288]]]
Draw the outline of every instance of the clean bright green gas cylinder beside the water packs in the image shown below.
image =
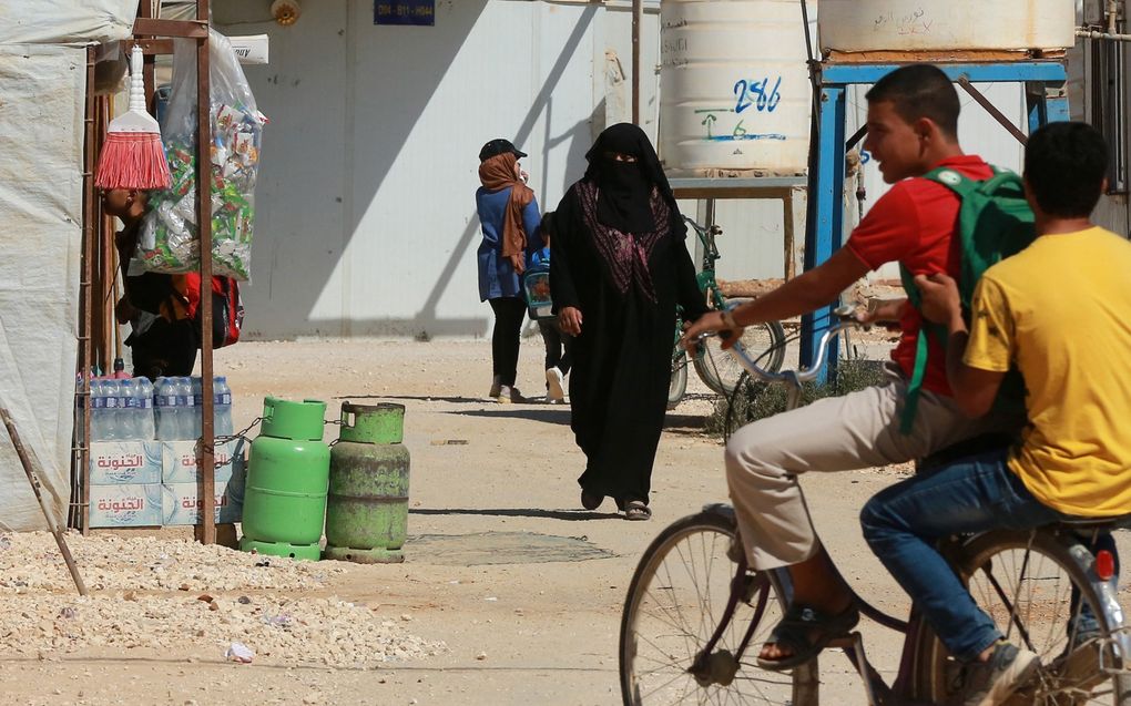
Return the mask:
[[326,402],[264,400],[251,443],[240,549],[296,559],[320,558],[330,450],[322,442]]

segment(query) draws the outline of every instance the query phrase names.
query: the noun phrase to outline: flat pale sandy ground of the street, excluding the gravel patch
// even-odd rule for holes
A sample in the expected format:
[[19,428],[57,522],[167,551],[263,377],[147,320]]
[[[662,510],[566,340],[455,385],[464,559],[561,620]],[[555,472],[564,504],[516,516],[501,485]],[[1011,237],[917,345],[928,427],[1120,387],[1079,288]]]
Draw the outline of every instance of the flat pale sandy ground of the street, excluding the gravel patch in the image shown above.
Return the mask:
[[[539,349],[541,341],[527,339],[518,384],[528,394],[542,392]],[[286,595],[347,601],[414,639],[446,647],[420,659],[329,668],[312,643],[304,659],[235,664],[225,661],[222,644],[241,639],[233,626],[231,637],[209,627],[209,637],[218,637],[211,642],[195,640],[196,633],[182,628],[184,640],[172,647],[143,640],[67,653],[8,650],[0,654],[0,703],[616,704],[620,611],[640,552],[668,522],[725,499],[722,446],[701,428],[710,395],[694,376],[690,399],[670,413],[661,442],[655,516],[632,523],[611,502],[596,512],[579,508],[575,479],[584,460],[568,408],[482,399],[490,383],[487,341],[240,343],[217,351],[216,366],[236,395],[238,428],[258,416],[268,393],[327,400],[328,417],[346,399],[406,406],[407,561],[343,564],[316,584],[294,583]],[[815,522],[841,570],[863,595],[897,613],[907,601],[863,543],[856,514],[900,472],[805,480]],[[241,595],[208,584],[202,575],[192,589],[228,605]],[[66,584],[51,593],[59,601]],[[159,587],[148,594],[176,598]],[[35,640],[33,627],[7,639]],[[900,636],[874,626],[864,634],[870,656],[890,674]],[[844,657],[829,655],[822,664],[826,703],[863,703]]]

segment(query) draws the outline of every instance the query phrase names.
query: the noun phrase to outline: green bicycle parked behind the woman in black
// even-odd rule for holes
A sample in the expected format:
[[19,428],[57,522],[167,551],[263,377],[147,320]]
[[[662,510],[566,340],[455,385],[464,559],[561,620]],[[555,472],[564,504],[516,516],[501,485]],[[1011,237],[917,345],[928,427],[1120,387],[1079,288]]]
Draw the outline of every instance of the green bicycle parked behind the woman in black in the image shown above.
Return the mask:
[[[742,297],[727,298],[715,279],[715,263],[722,258],[715,241],[723,234],[723,229],[717,225],[700,226],[687,216],[683,217],[683,220],[689,228],[694,230],[703,247],[702,270],[696,276],[696,280],[699,284],[699,290],[707,297],[708,305],[714,310],[723,310],[750,302],[751,299]],[[683,400],[688,390],[688,354],[680,347],[683,323],[683,314],[679,312],[672,347],[672,380],[667,392],[668,409],[674,409]],[[767,369],[777,372],[782,368],[785,360],[785,330],[780,323],[771,321],[749,326],[742,334],[742,341],[746,350],[758,351],[766,356],[765,367]],[[743,373],[741,364],[722,350],[714,339],[699,347],[691,363],[703,384],[713,392],[723,395],[734,391]]]

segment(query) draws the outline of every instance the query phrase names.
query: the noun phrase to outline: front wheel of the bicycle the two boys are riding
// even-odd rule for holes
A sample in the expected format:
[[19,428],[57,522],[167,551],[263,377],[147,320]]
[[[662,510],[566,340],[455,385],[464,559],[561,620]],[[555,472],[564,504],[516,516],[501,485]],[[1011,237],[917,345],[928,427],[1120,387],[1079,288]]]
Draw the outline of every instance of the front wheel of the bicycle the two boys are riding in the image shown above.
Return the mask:
[[[733,516],[705,511],[670,525],[645,550],[621,617],[625,705],[794,701],[792,674],[767,672],[754,662],[783,611],[767,574],[750,575],[746,600],[711,654],[698,659],[731,595],[736,566],[726,551],[734,533]],[[735,659],[744,639],[750,646]]]

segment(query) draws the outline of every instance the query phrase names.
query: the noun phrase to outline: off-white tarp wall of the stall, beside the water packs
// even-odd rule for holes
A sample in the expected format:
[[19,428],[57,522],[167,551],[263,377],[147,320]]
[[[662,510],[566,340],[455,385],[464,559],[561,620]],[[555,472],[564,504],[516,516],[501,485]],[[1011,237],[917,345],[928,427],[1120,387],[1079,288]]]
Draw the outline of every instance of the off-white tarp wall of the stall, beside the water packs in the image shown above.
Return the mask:
[[[85,81],[85,49],[0,45],[0,404],[59,521],[70,498]],[[45,526],[0,427],[0,530]]]

